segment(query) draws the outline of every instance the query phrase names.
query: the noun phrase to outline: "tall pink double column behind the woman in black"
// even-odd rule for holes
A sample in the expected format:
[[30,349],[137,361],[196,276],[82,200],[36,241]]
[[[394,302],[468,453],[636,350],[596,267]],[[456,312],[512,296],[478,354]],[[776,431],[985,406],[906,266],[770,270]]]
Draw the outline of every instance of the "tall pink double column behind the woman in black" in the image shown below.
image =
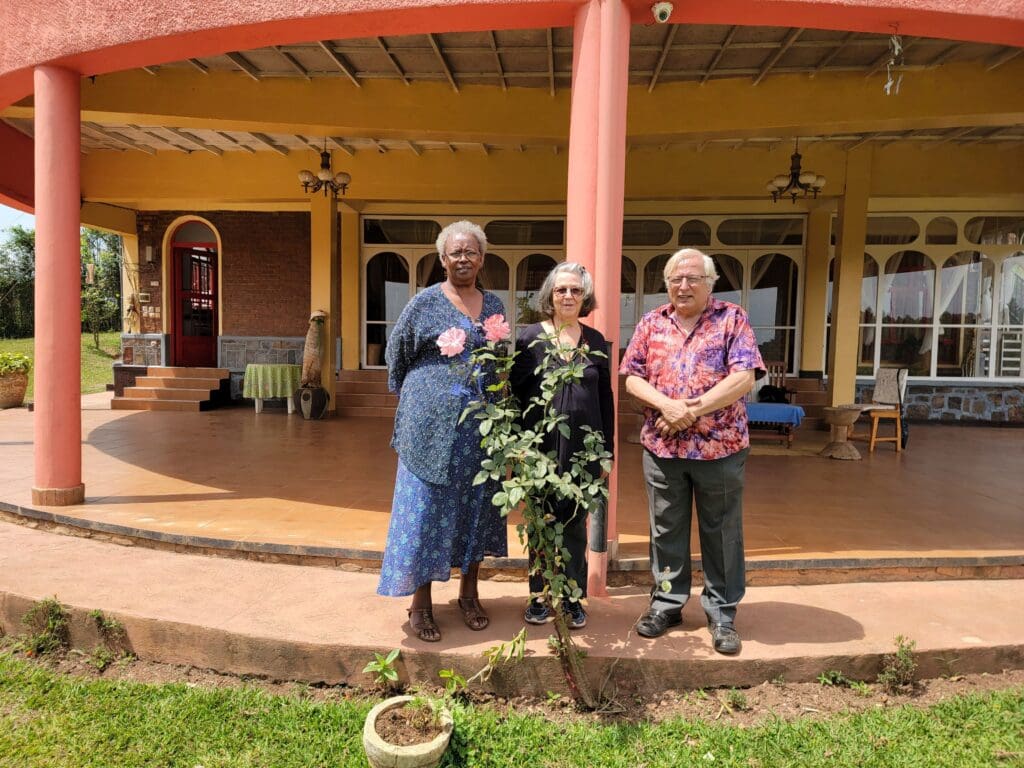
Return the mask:
[[[592,322],[611,342],[613,367],[618,360],[629,37],[630,14],[622,0],[590,0],[577,13],[566,252],[570,261],[586,265],[594,274],[599,309]],[[617,386],[613,392],[617,402]],[[613,470],[609,478],[609,546],[617,536],[617,470]],[[594,597],[607,595],[607,553],[591,552],[589,556],[587,591]]]

